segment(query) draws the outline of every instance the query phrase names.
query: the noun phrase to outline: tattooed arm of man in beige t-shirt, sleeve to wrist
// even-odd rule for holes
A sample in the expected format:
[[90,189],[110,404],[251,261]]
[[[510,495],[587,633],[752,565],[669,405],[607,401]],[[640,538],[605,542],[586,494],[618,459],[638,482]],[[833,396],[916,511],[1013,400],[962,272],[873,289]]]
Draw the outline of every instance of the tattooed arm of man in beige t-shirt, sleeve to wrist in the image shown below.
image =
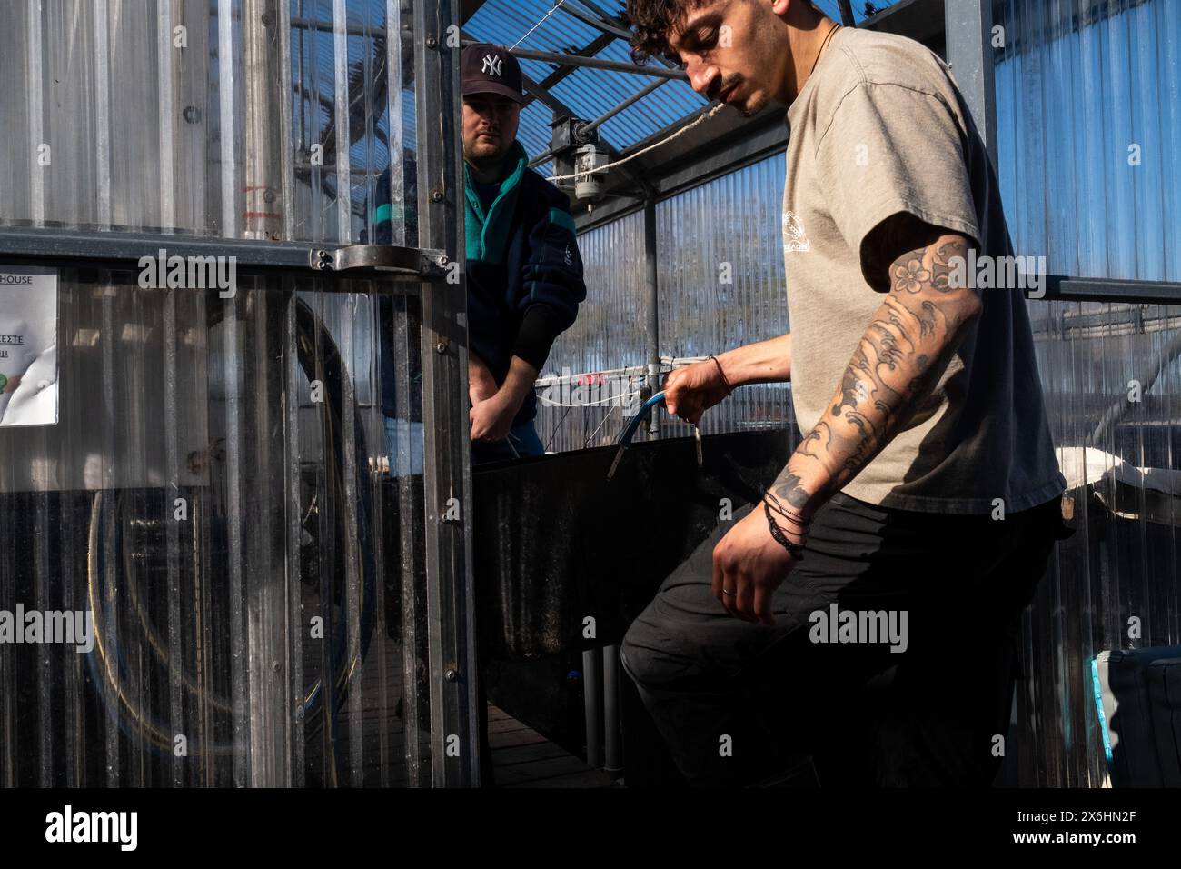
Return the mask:
[[[890,264],[889,294],[866,329],[827,410],[771,492],[810,514],[856,476],[914,415],[951,362],[980,298],[948,283],[968,241],[942,235]],[[896,248],[895,248],[896,249]]]

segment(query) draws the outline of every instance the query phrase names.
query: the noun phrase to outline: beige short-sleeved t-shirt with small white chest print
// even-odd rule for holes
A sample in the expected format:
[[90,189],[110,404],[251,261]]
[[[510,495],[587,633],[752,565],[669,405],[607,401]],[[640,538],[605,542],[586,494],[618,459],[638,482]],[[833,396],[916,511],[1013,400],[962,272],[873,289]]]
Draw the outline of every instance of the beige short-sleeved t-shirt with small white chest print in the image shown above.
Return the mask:
[[[996,174],[948,67],[905,37],[843,28],[787,123],[783,247],[791,394],[807,434],[888,286],[872,287],[861,244],[909,212],[1012,253]],[[875,279],[876,280],[876,279]],[[883,507],[1017,512],[1066,486],[1050,440],[1022,290],[979,290],[984,312],[906,427],[842,489]]]

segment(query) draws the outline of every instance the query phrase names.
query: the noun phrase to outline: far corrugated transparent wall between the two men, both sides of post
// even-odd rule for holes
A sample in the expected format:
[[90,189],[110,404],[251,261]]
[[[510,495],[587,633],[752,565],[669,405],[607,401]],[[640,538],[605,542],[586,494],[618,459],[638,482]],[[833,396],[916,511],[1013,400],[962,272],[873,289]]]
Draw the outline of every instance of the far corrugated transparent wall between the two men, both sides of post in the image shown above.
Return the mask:
[[[665,370],[672,359],[719,354],[788,331],[778,232],[783,170],[779,154],[657,205]],[[553,452],[612,443],[626,409],[613,396],[639,389],[647,364],[644,213],[583,233],[579,246],[587,300],[574,326],[554,343],[542,372],[569,372],[574,381],[566,389],[543,381],[539,389],[537,432]],[[691,434],[667,415],[659,422],[661,437]],[[788,428],[795,437],[794,427],[785,384],[744,387],[702,420],[706,434]]]

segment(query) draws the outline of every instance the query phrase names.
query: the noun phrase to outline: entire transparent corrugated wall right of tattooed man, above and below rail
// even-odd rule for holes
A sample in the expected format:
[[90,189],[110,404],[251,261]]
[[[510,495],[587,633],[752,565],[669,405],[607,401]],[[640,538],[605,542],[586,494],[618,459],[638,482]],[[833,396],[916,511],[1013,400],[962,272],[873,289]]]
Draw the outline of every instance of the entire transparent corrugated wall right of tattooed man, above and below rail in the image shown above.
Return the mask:
[[[998,169],[1018,253],[1046,257],[1051,274],[1181,280],[1181,5],[996,11]],[[1077,531],[1026,616],[1020,782],[1102,786],[1091,657],[1181,642],[1181,307],[1029,305]]]

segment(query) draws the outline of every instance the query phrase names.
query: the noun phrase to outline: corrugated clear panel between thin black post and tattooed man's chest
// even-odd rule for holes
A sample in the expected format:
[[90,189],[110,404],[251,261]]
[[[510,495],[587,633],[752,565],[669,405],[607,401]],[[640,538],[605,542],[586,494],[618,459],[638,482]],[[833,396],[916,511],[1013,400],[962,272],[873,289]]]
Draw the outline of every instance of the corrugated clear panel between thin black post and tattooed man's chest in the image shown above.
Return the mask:
[[[657,206],[661,355],[707,356],[789,330],[783,160],[768,157]],[[665,435],[691,432],[670,423]],[[785,384],[743,387],[702,417],[706,434],[794,426]]]

